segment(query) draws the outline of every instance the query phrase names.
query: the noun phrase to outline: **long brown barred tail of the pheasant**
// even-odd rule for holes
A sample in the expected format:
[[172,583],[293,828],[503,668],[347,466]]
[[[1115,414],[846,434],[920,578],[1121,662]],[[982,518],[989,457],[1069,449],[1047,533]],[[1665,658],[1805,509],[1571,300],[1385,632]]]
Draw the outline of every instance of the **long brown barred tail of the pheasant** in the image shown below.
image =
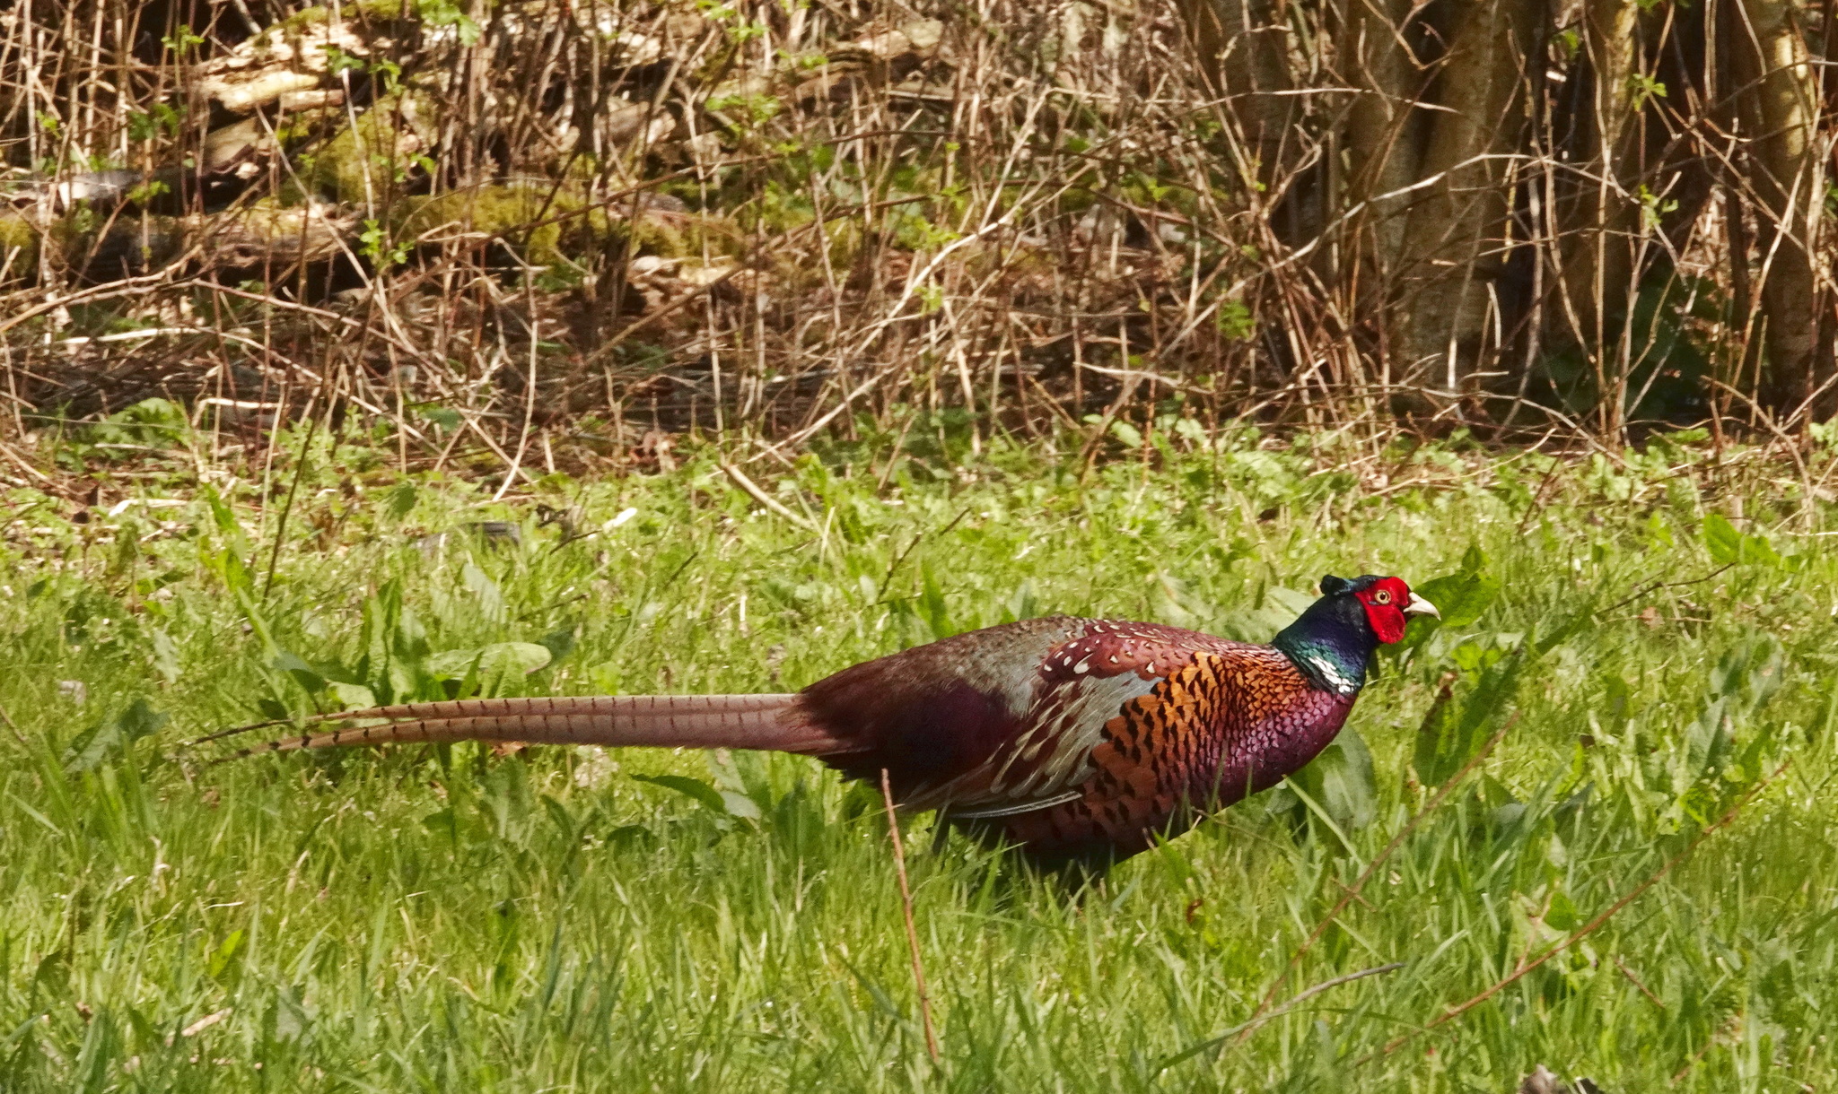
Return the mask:
[[[358,723],[307,731],[246,747],[230,760],[294,749],[397,742],[528,742],[542,745],[652,745],[768,749],[827,754],[849,751],[809,725],[798,696],[584,696],[572,699],[458,699],[318,714],[296,725]],[[366,725],[368,723],[368,725]],[[289,725],[265,721],[193,743]]]

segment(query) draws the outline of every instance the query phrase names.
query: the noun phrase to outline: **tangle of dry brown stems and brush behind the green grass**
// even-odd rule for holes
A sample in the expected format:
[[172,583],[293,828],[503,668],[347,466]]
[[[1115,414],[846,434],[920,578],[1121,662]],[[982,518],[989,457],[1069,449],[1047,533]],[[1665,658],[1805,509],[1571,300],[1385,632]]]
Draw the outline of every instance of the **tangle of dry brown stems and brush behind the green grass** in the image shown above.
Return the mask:
[[[1518,151],[1358,198],[1344,15],[1277,13],[1276,95],[1230,72],[1270,35],[1208,75],[1184,18],[1171,0],[22,4],[0,15],[11,428],[154,395],[230,433],[355,411],[404,464],[539,474],[654,457],[680,430],[759,455],[948,411],[1094,439],[1176,404],[1208,426],[1610,444],[1628,413],[1809,420],[1823,389],[1770,400],[1750,349],[1752,283],[1787,233],[1706,88],[1634,103],[1660,132],[1628,191],[1577,162],[1588,59],[1559,35],[1513,61],[1535,92],[1500,123]],[[1663,68],[1685,31],[1647,33]],[[1483,235],[1503,235],[1469,240],[1469,264],[1380,261],[1384,215],[1481,191],[1505,217]],[[1750,261],[1757,231],[1774,250]],[[1603,285],[1614,261],[1583,237],[1638,275]],[[1424,308],[1474,312],[1472,336],[1404,352],[1391,319]]]

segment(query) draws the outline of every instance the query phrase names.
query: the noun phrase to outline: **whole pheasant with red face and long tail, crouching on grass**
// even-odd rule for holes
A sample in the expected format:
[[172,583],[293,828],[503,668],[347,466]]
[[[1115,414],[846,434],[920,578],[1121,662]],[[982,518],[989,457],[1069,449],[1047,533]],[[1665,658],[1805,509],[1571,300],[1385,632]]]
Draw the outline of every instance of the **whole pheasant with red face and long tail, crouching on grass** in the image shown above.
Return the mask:
[[309,718],[358,725],[239,754],[461,740],[768,749],[847,778],[879,784],[886,771],[901,808],[941,809],[1042,863],[1114,863],[1312,760],[1410,615],[1439,613],[1395,576],[1329,575],[1268,646],[1055,615],[866,661],[796,694],[406,703]]

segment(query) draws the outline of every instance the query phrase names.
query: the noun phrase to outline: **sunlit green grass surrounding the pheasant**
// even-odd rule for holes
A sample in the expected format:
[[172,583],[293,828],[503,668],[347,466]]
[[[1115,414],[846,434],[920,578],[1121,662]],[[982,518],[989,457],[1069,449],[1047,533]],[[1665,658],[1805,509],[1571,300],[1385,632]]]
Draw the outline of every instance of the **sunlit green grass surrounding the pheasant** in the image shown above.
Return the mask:
[[[11,496],[7,1092],[1498,1092],[1540,1063],[1610,1092],[1838,1081],[1838,564],[1794,468],[1156,437],[1152,466],[1083,481],[998,444],[915,455],[879,490],[886,452],[864,444],[761,472],[807,532],[691,453],[669,475],[544,483],[592,530],[562,541],[528,499],[489,503],[494,483],[403,486],[347,446],[320,450],[270,586],[290,472],[213,510],[169,441],[156,475],[108,483],[182,507],[77,525]],[[1746,519],[1715,516],[1737,503]],[[522,543],[410,541],[469,519],[520,521]],[[879,797],[814,762],[460,745],[206,765],[178,747],[362,692],[785,690],[1059,609],[1263,641],[1329,571],[1467,573],[1485,611],[1386,657],[1351,721],[1371,773],[1347,740],[1303,780],[1316,809],[1277,789],[1086,892],[906,820],[937,1065]],[[1423,776],[1509,710],[1276,1000],[1402,967],[1208,1046],[1426,808]],[[656,775],[697,784],[638,778]],[[1597,931],[1386,1052],[1742,800]]]

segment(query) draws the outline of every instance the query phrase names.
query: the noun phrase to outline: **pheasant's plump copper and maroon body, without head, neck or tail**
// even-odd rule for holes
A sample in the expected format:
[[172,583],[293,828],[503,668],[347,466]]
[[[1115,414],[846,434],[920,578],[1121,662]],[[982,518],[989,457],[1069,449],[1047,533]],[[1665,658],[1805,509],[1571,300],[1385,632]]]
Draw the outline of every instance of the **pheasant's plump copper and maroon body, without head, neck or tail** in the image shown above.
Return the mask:
[[849,742],[825,756],[844,775],[884,767],[901,804],[1062,859],[1141,852],[1195,808],[1274,786],[1334,740],[1353,696],[1270,646],[1055,617],[845,668],[796,705]]

